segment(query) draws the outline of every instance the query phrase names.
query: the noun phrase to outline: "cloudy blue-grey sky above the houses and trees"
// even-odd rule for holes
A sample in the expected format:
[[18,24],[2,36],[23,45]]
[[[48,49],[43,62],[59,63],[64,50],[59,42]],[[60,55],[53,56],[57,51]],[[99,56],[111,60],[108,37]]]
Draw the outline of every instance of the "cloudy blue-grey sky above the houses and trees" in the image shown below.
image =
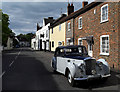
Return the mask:
[[[42,26],[43,18],[57,19],[61,12],[67,13],[67,2],[2,2],[2,11],[9,15],[10,29],[18,34],[35,33],[36,25]],[[30,1],[30,0],[29,0]],[[54,0],[53,0],[54,1]],[[81,2],[73,2],[75,11],[82,7]],[[61,9],[62,8],[62,9]]]

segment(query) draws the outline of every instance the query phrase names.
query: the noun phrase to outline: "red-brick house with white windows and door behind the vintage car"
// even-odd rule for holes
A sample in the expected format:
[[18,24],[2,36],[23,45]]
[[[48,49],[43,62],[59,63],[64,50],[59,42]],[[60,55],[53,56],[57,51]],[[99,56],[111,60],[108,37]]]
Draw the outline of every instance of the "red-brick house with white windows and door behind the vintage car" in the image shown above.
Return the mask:
[[[120,3],[120,2],[119,2]],[[84,45],[88,54],[104,58],[112,68],[120,67],[120,4],[93,2],[75,16],[75,45]],[[87,40],[87,39],[93,39]]]

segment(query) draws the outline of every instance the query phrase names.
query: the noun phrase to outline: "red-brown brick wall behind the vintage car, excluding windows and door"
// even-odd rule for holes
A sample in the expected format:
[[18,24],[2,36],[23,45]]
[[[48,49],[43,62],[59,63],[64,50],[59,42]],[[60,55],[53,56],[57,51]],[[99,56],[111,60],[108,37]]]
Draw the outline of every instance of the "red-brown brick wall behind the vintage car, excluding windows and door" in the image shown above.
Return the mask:
[[[101,22],[101,7],[106,3],[92,8],[75,18],[75,44],[78,38],[94,36],[93,57],[104,58],[111,67],[118,68],[118,3],[108,3],[108,21]],[[96,9],[96,14],[94,10]],[[78,29],[78,18],[82,17],[82,29]],[[109,35],[109,56],[100,55],[100,36]],[[87,47],[87,42],[83,41]]]

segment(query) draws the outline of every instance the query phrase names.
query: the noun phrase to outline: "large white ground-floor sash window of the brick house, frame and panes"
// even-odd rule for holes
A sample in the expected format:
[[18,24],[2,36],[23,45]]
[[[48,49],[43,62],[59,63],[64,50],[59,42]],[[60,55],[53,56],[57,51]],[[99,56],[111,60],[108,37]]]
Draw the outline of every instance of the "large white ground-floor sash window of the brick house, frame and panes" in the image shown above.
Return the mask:
[[100,37],[100,54],[109,55],[109,35],[102,35]]

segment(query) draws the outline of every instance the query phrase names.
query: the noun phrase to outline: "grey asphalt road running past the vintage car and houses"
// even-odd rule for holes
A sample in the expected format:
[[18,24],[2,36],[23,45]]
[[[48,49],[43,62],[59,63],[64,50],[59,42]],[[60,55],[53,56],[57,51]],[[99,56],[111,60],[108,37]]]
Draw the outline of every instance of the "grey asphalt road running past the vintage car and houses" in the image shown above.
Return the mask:
[[[33,51],[30,48],[18,48],[2,53],[2,90],[55,91],[73,90],[89,92],[118,92],[120,86],[119,74],[111,72],[111,77],[105,82],[80,81],[76,87],[71,87],[67,79],[59,73],[53,73],[50,60],[53,53]],[[21,91],[20,91],[21,92]]]

